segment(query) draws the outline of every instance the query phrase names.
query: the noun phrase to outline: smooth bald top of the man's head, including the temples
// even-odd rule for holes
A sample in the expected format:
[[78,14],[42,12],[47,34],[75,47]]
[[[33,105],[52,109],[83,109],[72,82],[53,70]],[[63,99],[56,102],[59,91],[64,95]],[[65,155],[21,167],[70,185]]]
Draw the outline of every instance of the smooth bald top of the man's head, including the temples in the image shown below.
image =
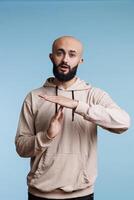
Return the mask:
[[54,53],[55,50],[57,50],[57,48],[59,46],[66,46],[68,47],[70,50],[74,50],[76,51],[80,56],[82,56],[83,53],[83,45],[82,43],[76,39],[75,37],[72,36],[62,36],[57,38],[52,45],[52,52]]

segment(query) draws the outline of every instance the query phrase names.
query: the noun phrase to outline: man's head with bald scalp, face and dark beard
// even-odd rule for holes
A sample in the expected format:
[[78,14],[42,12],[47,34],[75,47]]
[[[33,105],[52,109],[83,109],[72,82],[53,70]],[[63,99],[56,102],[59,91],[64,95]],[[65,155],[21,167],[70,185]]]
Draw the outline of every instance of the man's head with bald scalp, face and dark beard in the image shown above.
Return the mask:
[[63,37],[53,45],[50,54],[54,76],[59,81],[69,81],[75,77],[78,65],[82,62],[82,45],[74,38]]

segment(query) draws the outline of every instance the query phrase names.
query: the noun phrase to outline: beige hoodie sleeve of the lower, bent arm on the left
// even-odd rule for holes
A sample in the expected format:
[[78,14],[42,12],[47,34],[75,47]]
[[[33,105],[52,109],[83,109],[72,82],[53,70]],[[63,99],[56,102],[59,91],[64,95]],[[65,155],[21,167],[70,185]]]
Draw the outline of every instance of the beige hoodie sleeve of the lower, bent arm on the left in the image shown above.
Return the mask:
[[34,127],[34,114],[32,107],[26,100],[20,113],[15,145],[16,151],[21,157],[33,157],[44,151],[52,140],[46,137],[46,132],[36,133]]

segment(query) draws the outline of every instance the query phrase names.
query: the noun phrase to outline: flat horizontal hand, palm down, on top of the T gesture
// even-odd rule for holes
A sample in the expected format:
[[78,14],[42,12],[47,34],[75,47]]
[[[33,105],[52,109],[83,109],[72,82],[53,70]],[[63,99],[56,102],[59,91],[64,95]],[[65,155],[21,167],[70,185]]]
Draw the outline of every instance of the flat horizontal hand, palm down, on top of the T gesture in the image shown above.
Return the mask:
[[50,101],[52,103],[57,103],[63,107],[75,109],[78,106],[78,101],[64,97],[64,96],[48,96],[48,95],[39,95],[39,97]]

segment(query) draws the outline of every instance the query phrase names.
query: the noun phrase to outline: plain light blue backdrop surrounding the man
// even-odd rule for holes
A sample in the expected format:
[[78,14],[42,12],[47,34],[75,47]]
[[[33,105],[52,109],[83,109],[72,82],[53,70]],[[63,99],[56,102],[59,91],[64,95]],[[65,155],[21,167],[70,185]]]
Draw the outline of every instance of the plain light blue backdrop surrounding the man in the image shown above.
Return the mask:
[[27,199],[29,159],[14,138],[26,94],[52,75],[53,40],[73,35],[84,46],[78,75],[107,91],[132,118],[122,135],[99,129],[95,200],[134,199],[133,1],[0,1],[0,199]]

